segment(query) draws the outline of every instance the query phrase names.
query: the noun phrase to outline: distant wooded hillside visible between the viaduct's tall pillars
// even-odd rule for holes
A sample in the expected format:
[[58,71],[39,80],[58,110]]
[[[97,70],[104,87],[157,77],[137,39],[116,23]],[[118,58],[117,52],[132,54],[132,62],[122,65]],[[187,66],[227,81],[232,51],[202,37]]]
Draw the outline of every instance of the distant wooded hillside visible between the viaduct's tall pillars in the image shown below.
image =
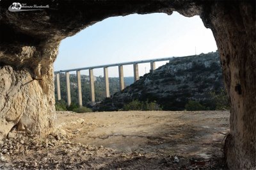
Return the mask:
[[[99,102],[105,98],[104,93],[104,77],[94,77],[95,84],[95,100]],[[133,77],[124,77],[125,87],[129,86],[133,82]],[[81,88],[83,105],[87,105],[90,102],[90,79],[88,75],[81,75]],[[67,89],[66,89],[66,77],[64,73],[60,73],[60,89],[61,99],[67,103]],[[113,95],[119,91],[119,79],[118,77],[109,77],[109,91],[110,95]],[[57,86],[55,81],[55,98],[57,101]],[[76,74],[70,74],[70,95],[73,104],[77,104],[77,77]]]

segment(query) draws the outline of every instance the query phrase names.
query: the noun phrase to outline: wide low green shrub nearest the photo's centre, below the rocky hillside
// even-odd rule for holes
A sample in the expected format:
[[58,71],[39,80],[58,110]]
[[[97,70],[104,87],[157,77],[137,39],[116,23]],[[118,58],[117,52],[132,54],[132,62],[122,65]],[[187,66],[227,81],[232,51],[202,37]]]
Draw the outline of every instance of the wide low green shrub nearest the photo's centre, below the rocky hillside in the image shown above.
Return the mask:
[[140,102],[132,100],[129,104],[124,105],[124,111],[161,111],[162,108],[154,102]]

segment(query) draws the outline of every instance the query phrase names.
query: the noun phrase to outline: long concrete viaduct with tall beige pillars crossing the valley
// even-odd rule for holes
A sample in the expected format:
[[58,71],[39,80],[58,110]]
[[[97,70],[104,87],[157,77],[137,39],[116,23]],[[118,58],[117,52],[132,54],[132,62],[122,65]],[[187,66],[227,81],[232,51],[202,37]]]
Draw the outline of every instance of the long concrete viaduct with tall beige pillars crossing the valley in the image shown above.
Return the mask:
[[138,81],[140,79],[139,77],[139,67],[138,64],[140,63],[150,63],[150,70],[154,71],[156,69],[156,62],[157,61],[170,61],[172,58],[159,58],[159,59],[148,59],[148,60],[141,60],[141,61],[131,61],[126,63],[116,63],[111,65],[100,65],[100,66],[90,66],[90,67],[84,67],[84,68],[74,68],[70,70],[60,70],[54,72],[56,81],[57,81],[57,94],[58,94],[58,100],[61,100],[61,94],[60,94],[60,73],[64,73],[66,75],[66,84],[67,84],[67,104],[68,106],[71,104],[71,96],[70,96],[70,79],[69,79],[69,72],[76,71],[77,75],[77,89],[78,89],[78,102],[79,106],[83,106],[82,101],[82,89],[81,89],[81,70],[89,70],[89,78],[90,78],[90,96],[91,96],[91,102],[92,104],[95,103],[95,90],[94,90],[94,76],[93,76],[93,69],[94,68],[103,68],[104,69],[104,79],[105,79],[105,96],[110,97],[109,95],[109,79],[108,79],[108,67],[111,66],[118,66],[118,72],[119,72],[119,87],[120,91],[124,89],[124,65],[133,65],[133,72],[134,72],[134,82]]

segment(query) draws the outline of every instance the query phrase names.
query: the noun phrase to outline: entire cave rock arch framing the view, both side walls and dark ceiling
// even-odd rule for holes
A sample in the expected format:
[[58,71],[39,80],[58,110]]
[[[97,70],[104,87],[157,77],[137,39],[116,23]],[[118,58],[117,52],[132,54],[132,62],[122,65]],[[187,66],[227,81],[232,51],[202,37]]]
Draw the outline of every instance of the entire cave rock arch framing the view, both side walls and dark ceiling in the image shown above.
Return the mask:
[[[23,3],[20,1],[20,3]],[[38,4],[38,1],[24,3]],[[9,12],[0,2],[0,139],[12,127],[48,134],[54,127],[52,63],[63,38],[112,16],[177,11],[200,15],[220,51],[232,104],[230,169],[256,168],[255,3],[253,1],[41,1],[49,9]]]

